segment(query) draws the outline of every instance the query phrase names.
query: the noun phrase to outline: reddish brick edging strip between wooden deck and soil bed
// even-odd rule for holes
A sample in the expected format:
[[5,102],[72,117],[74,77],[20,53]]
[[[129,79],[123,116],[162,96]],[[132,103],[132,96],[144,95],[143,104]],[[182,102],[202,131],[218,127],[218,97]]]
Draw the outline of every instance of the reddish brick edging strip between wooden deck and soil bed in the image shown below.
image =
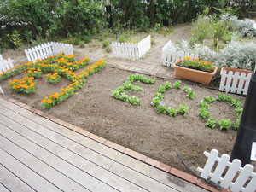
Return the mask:
[[[153,159],[151,159],[151,158],[149,158],[149,157],[147,157],[143,154],[139,154],[136,151],[131,150],[130,148],[125,148],[125,147],[123,147],[123,146],[121,146],[117,143],[113,143],[111,141],[108,141],[105,138],[96,136],[95,134],[90,133],[89,131],[85,131],[85,130],[79,128],[78,126],[71,125],[71,124],[69,124],[65,121],[62,121],[61,119],[57,119],[54,116],[46,114],[46,113],[44,113],[44,112],[42,112],[38,109],[31,108],[30,106],[26,105],[25,103],[19,102],[19,101],[13,99],[13,98],[10,98],[9,96],[2,95],[1,97],[5,100],[9,101],[9,102],[15,103],[16,105],[20,106],[21,108],[25,108],[26,110],[31,111],[32,113],[36,113],[39,116],[42,116],[46,119],[49,119],[49,120],[55,122],[56,124],[65,126],[69,130],[75,131],[75,132],[77,132],[77,133],[79,133],[79,134],[81,134],[85,137],[89,137],[90,139],[93,139],[94,141],[96,141],[98,143],[102,143],[103,145],[106,145],[109,148],[113,148],[113,149],[119,151],[122,154],[127,154],[127,155],[129,155],[129,156],[131,156],[131,157],[133,157],[137,160],[143,161],[144,163],[146,163],[150,166],[154,166],[157,169],[160,169],[164,172],[168,172],[168,173],[170,173],[170,174],[172,174],[176,177],[182,178],[183,180],[185,180],[189,183],[193,183],[193,184],[201,187],[202,189],[207,189],[207,190],[212,191],[212,192],[218,192],[219,191],[218,189],[215,189],[212,186],[209,186],[207,183],[204,183],[201,179],[198,179],[197,177],[192,176],[192,175],[190,175],[186,172],[179,171],[176,168],[173,168],[171,166],[167,166],[166,164],[161,163],[158,160],[153,160]],[[228,190],[226,190],[226,189],[223,189],[221,191],[228,192]]]

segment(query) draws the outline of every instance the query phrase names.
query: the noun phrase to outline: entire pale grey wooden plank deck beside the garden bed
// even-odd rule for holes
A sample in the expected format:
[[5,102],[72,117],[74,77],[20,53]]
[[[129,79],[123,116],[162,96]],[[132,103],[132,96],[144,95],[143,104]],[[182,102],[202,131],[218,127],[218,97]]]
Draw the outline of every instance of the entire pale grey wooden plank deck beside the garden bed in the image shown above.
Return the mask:
[[205,191],[0,97],[0,191]]

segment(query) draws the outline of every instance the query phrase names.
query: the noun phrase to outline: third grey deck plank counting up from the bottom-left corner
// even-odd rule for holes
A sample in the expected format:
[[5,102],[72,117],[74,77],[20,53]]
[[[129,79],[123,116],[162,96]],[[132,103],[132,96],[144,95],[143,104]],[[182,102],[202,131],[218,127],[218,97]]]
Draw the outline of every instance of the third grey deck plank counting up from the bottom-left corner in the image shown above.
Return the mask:
[[2,148],[0,148],[0,164],[7,167],[11,172],[15,172],[18,177],[37,191],[61,191],[36,172],[33,172],[27,166],[20,163],[13,156],[6,153]]

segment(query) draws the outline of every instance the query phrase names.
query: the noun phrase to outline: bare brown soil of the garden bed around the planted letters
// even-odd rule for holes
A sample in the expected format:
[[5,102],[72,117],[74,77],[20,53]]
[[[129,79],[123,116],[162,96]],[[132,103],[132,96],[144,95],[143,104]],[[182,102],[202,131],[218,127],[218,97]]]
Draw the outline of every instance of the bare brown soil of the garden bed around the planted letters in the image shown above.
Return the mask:
[[[48,110],[42,109],[42,99],[59,91],[70,84],[70,81],[61,78],[58,84],[52,85],[46,81],[45,75],[36,79],[36,93],[18,94],[9,87],[10,78],[0,82],[7,96],[24,102],[32,108],[49,113],[59,119],[77,125],[100,137],[104,137],[126,148],[131,148],[141,154],[145,154],[155,160],[160,160],[169,166],[187,172],[177,154],[180,154],[185,162],[194,170],[197,166],[203,167],[206,157],[203,152],[212,148],[218,149],[221,154],[230,154],[236,138],[236,131],[219,131],[205,127],[206,121],[201,119],[199,103],[207,96],[218,96],[218,91],[208,90],[198,84],[187,84],[195,90],[195,99],[190,100],[183,90],[167,90],[164,94],[167,106],[177,108],[179,105],[189,107],[187,116],[178,114],[170,117],[157,114],[156,108],[150,105],[154,94],[160,84],[166,79],[156,79],[155,84],[143,84],[134,82],[143,88],[139,92],[125,91],[127,95],[138,96],[140,104],[133,106],[128,102],[122,102],[111,97],[112,90],[125,82],[130,72],[106,67],[102,71],[90,76],[83,88],[78,90],[67,101],[62,102]],[[22,79],[24,74],[15,76]],[[173,84],[175,80],[170,82]],[[245,97],[230,95],[242,103]],[[209,104],[209,112],[215,119],[230,118],[236,121],[236,111],[226,102],[214,102]]]

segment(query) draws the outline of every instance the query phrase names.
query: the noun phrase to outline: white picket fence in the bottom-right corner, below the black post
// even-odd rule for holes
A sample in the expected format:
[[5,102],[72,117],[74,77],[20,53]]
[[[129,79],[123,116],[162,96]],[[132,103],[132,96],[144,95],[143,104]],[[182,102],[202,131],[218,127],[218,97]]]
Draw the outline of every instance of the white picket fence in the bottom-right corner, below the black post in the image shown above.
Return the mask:
[[[219,158],[218,150],[216,149],[212,149],[211,153],[205,151],[204,154],[207,156],[207,163],[203,169],[197,168],[198,172],[201,172],[201,177],[210,178],[213,183],[219,183],[224,189],[230,188],[232,192],[253,192],[256,190],[256,173],[253,172],[252,165],[247,164],[242,168],[241,160],[237,159],[230,163],[230,156],[222,154],[221,158]],[[216,163],[218,165],[214,169],[213,166]],[[233,182],[235,177],[236,181]]]

